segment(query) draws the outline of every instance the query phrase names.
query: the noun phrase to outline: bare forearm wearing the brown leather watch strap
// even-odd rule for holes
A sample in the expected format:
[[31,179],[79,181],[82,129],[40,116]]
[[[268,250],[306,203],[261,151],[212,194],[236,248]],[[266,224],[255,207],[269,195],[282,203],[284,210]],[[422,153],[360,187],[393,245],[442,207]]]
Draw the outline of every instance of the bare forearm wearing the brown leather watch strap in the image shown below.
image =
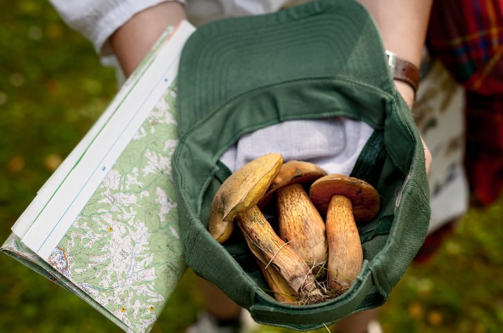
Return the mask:
[[[358,0],[369,10],[380,30],[387,51],[416,66],[421,64],[432,0]],[[405,82],[395,81],[407,104],[414,91]]]

